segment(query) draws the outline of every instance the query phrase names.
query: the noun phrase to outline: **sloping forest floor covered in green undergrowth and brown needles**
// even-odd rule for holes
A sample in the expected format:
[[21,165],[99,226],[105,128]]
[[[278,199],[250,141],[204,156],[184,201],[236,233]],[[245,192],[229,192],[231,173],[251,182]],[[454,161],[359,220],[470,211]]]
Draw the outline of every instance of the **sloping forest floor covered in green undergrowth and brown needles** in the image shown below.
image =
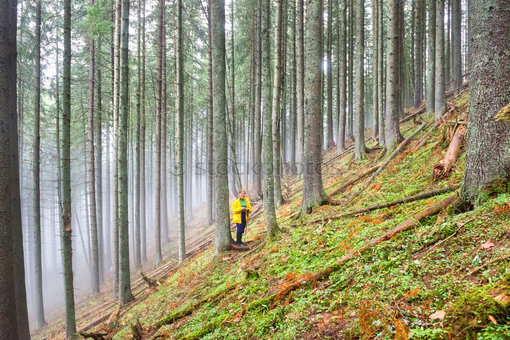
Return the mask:
[[[467,91],[448,100],[454,108],[447,121],[467,112]],[[402,123],[404,137],[424,119],[422,115]],[[353,200],[319,207],[301,220],[289,216],[300,207],[302,181],[288,179],[287,203],[277,212],[282,231],[274,239],[265,239],[264,215],[253,214],[257,216],[246,235],[250,250],[215,258],[213,229],[204,228],[199,239],[190,240],[189,249],[195,251],[183,265],[170,261],[147,273],[162,278],[156,287],[136,281],[137,301],[115,309],[87,332],[114,339],[510,339],[510,193],[489,197],[463,214],[448,207],[393,238],[354,252],[341,266],[331,266],[453,194],[331,218],[461,184],[463,148],[447,178],[431,177],[432,166],[445,155],[453,126],[424,129]],[[367,144],[374,146],[371,140]],[[374,167],[380,155],[379,149],[366,160],[354,161],[347,152],[333,160],[336,151],[330,151],[324,156],[326,192]],[[347,202],[364,179],[334,198]],[[321,220],[307,223],[317,219]],[[334,270],[325,279],[313,275],[328,266]],[[79,327],[108,311],[101,308],[108,305],[108,297],[103,299],[79,307]],[[62,338],[62,332],[60,321],[34,337]]]

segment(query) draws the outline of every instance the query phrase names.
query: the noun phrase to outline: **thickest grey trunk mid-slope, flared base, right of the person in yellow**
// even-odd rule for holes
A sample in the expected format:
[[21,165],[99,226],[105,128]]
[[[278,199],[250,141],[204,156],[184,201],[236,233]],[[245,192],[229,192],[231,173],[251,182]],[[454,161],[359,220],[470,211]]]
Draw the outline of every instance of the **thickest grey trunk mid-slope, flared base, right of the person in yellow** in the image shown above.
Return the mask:
[[304,171],[303,200],[301,210],[311,213],[312,209],[322,204],[325,192],[321,176],[321,72],[320,59],[320,0],[307,1],[307,25],[305,41],[305,83],[307,91],[304,101]]

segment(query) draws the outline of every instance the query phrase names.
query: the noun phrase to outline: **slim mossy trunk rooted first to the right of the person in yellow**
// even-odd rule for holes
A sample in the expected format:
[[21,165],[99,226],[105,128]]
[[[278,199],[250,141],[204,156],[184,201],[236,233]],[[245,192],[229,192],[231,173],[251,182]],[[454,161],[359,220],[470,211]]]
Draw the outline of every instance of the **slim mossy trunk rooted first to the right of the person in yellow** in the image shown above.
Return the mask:
[[[279,5],[281,6],[281,5]],[[269,37],[270,37],[270,4],[269,0],[264,0],[262,4],[262,149],[263,149],[263,168],[264,168],[264,211],[266,213],[266,231],[267,236],[272,237],[278,231],[276,224],[276,215],[274,207],[274,166],[273,166],[273,139],[271,124],[271,70],[269,56]],[[281,17],[281,7],[279,7],[279,15]],[[276,21],[277,22],[277,21]],[[277,36],[278,34],[275,33]],[[274,72],[279,75],[278,71]],[[277,87],[279,89],[279,86]],[[279,97],[279,96],[278,96]],[[278,98],[279,100],[279,98]],[[275,105],[275,103],[273,103]]]

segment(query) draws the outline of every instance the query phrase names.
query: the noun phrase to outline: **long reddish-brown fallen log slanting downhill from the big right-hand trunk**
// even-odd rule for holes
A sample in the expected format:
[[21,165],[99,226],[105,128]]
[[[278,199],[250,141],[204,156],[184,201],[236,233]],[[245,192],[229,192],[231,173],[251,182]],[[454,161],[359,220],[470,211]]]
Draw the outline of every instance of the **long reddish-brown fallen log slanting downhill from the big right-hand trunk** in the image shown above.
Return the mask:
[[[397,225],[395,228],[385,232],[381,236],[379,236],[376,239],[373,239],[372,241],[368,242],[361,248],[358,248],[356,250],[351,251],[344,257],[337,260],[335,263],[331,264],[330,266],[327,266],[321,270],[319,270],[316,273],[310,274],[311,279],[314,281],[323,280],[326,279],[331,273],[337,272],[342,268],[342,265],[344,265],[348,260],[350,260],[354,255],[361,255],[363,251],[366,249],[372,247],[373,245],[378,244],[382,241],[387,241],[392,238],[394,238],[397,234],[400,232],[406,231],[414,227],[418,222],[423,220],[426,217],[435,216],[439,214],[444,208],[446,208],[448,205],[450,205],[456,198],[458,194],[455,193],[448,198],[445,198],[441,202],[438,202],[436,204],[432,204],[428,208],[426,208],[423,212],[414,215],[412,218],[405,220],[404,222]],[[311,280],[295,280],[293,282],[288,282],[284,285],[282,285],[281,289],[276,293],[275,301],[281,301],[286,295],[288,295],[290,292],[295,291],[299,289],[301,286],[307,284]]]

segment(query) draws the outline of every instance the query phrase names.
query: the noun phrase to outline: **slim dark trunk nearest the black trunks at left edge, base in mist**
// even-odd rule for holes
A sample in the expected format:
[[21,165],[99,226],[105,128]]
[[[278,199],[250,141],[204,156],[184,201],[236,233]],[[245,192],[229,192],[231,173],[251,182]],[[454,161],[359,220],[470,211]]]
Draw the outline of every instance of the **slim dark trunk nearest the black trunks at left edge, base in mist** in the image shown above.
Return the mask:
[[34,151],[32,166],[34,171],[34,269],[35,269],[35,318],[36,327],[46,325],[42,296],[42,260],[41,260],[41,186],[40,186],[40,149],[41,149],[41,2],[35,4],[35,95],[34,95]]

